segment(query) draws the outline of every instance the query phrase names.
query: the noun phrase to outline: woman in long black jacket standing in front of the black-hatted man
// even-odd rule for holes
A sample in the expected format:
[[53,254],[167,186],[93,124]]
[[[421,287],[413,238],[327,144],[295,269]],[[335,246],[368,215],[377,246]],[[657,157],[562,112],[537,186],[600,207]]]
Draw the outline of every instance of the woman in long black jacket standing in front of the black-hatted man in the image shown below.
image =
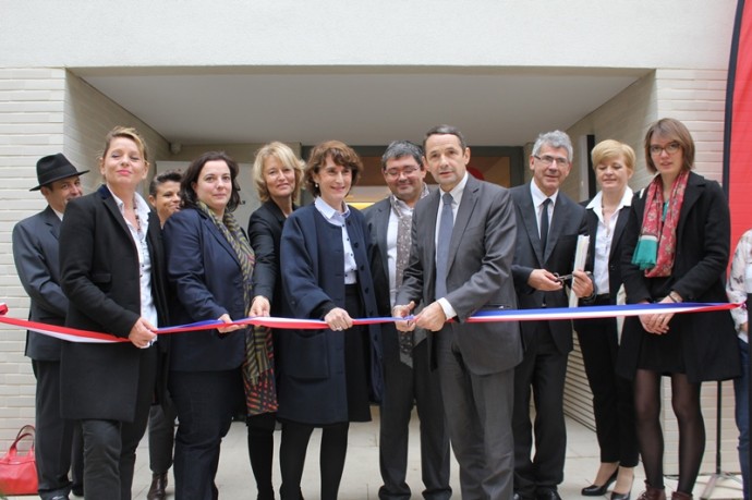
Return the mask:
[[64,342],[62,417],[81,422],[86,498],[131,498],[136,447],[159,373],[155,330],[168,325],[159,217],[138,194],[149,170],[134,129],[105,138],[105,183],[72,199],[60,228],[65,326],[128,342]]

